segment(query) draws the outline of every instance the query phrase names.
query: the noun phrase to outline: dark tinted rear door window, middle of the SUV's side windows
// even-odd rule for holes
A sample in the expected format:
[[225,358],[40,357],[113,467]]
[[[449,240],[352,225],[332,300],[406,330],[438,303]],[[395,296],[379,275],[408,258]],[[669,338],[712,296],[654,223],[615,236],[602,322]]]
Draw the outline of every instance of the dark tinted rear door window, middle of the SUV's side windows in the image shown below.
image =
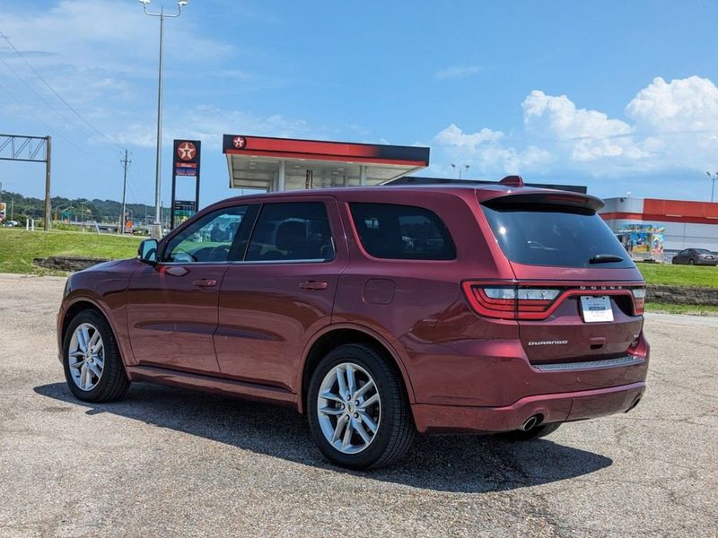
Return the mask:
[[264,204],[255,224],[248,261],[330,260],[334,243],[321,202]]

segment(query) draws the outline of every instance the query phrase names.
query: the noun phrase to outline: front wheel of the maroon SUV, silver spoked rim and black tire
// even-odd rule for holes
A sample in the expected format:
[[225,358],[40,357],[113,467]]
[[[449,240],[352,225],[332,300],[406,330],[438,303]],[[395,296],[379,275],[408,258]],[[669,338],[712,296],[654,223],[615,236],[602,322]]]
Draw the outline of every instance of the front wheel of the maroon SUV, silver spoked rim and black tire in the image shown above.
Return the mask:
[[[85,342],[88,338],[95,343],[88,346]],[[97,342],[101,344],[101,350]],[[88,347],[90,351],[86,354],[82,348],[86,351]],[[93,349],[98,351],[92,352]],[[83,310],[68,325],[62,362],[67,386],[78,400],[110,402],[127,393],[130,382],[118,343],[107,319],[96,310]]]

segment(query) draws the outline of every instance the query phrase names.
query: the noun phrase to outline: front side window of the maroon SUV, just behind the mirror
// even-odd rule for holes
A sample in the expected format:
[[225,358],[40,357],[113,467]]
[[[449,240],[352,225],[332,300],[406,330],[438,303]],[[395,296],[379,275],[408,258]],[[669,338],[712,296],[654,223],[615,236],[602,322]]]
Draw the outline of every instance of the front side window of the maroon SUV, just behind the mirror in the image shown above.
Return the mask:
[[227,261],[247,208],[241,205],[218,209],[192,222],[171,239],[162,261],[183,264]]

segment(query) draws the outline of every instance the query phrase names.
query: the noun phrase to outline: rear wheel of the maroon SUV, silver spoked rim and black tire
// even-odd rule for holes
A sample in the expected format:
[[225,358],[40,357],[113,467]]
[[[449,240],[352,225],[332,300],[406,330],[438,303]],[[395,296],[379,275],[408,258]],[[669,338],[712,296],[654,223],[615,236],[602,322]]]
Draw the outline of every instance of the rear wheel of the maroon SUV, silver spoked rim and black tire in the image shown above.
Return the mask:
[[[392,366],[371,347],[352,343],[329,351],[314,369],[307,391],[311,437],[331,463],[349,469],[376,468],[407,453],[416,428],[406,391]],[[346,388],[355,387],[348,400],[346,393],[340,399],[339,377]],[[350,378],[355,381],[350,383]],[[332,397],[322,398],[320,393]],[[325,411],[320,412],[320,407]],[[334,443],[331,437],[336,438]]]

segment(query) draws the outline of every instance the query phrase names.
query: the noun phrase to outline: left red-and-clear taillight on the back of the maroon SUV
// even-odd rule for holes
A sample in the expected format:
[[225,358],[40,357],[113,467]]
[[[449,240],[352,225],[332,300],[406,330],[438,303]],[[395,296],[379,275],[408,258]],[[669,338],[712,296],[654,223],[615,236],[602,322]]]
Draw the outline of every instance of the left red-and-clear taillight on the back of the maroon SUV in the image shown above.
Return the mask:
[[540,319],[561,295],[556,288],[521,288],[464,282],[464,294],[477,314],[499,319]]

